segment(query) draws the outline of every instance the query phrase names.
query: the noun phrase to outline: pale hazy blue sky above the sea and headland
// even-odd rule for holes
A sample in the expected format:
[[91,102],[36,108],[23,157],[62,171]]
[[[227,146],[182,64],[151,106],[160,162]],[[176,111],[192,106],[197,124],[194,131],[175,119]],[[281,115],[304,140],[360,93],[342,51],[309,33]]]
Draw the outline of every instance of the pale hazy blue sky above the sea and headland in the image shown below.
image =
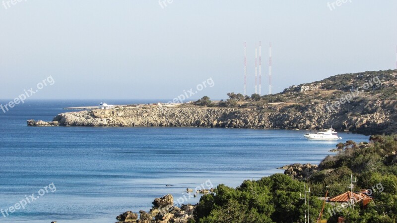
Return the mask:
[[[204,95],[262,93],[335,74],[396,69],[397,1],[0,0],[0,98],[52,76],[35,99],[172,99],[212,78]],[[169,0],[170,1],[170,0]],[[328,6],[328,2],[330,6]],[[332,9],[332,10],[331,10]]]

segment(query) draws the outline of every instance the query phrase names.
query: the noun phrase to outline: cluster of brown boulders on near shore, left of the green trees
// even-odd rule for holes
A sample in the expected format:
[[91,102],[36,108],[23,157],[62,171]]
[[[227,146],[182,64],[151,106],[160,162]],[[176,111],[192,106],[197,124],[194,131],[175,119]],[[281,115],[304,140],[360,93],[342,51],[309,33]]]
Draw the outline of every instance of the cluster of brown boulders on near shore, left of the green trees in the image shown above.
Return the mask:
[[139,211],[138,215],[132,211],[117,216],[117,223],[188,223],[193,220],[195,205],[182,205],[180,208],[173,206],[174,198],[167,194],[153,201],[153,208],[149,212]]

